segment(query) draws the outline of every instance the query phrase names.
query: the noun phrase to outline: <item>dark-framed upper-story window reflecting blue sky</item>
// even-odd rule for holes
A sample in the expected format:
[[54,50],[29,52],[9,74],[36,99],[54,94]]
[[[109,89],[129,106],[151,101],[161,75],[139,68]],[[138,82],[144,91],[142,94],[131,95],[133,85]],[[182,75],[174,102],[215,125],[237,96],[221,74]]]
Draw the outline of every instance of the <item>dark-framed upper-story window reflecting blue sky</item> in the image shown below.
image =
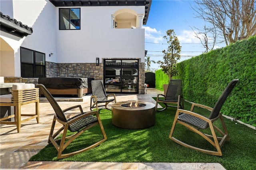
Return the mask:
[[80,30],[80,8],[59,8],[59,29]]

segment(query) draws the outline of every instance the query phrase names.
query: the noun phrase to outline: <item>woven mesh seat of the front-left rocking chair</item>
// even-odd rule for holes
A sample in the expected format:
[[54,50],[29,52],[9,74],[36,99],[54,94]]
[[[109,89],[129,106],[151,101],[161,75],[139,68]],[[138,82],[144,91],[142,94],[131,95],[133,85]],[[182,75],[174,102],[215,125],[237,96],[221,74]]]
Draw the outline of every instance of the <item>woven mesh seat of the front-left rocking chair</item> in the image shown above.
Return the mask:
[[[84,114],[84,113],[82,113]],[[68,119],[68,121],[72,121],[73,119],[75,119],[76,117],[79,117],[80,115],[82,114],[79,114],[79,115],[76,115],[70,119]],[[81,119],[78,119],[77,121],[75,121],[74,123],[71,123],[69,126],[68,126],[68,130],[70,130],[71,132],[77,132],[79,131],[81,128],[84,128],[94,122],[97,122],[97,118],[92,116],[92,115],[89,115],[89,116],[86,116],[86,117],[83,117]]]

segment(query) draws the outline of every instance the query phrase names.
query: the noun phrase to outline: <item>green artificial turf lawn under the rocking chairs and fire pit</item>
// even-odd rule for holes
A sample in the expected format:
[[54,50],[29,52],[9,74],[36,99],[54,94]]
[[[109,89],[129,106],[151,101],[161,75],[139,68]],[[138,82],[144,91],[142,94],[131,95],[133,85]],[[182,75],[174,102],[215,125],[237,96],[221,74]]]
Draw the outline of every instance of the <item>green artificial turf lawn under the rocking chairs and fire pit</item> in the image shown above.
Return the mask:
[[[185,103],[185,109],[190,108]],[[198,112],[206,111],[197,109]],[[256,168],[256,130],[236,121],[224,118],[230,141],[222,147],[223,156],[213,156],[192,150],[169,139],[170,129],[176,108],[156,112],[156,124],[145,129],[123,129],[112,125],[111,111],[100,109],[100,118],[104,126],[107,140],[100,146],[61,160],[57,159],[57,150],[48,144],[30,161],[83,161],[83,162],[216,162],[227,170]],[[218,126],[217,122],[217,126]],[[220,126],[218,126],[220,127]],[[181,125],[176,125],[174,135],[184,142],[212,148],[199,135]],[[101,139],[99,126],[90,128],[72,142],[65,152],[83,148],[86,144]],[[64,153],[65,153],[64,152]]]

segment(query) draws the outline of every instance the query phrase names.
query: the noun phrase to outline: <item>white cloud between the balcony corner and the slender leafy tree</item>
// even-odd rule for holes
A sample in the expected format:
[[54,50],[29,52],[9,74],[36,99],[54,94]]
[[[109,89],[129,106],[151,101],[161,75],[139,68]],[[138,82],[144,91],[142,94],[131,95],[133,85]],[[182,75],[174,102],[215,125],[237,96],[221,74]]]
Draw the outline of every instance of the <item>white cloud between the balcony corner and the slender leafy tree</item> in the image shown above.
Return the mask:
[[162,33],[157,31],[156,28],[142,26],[145,29],[145,40],[153,43],[159,43],[163,40]]

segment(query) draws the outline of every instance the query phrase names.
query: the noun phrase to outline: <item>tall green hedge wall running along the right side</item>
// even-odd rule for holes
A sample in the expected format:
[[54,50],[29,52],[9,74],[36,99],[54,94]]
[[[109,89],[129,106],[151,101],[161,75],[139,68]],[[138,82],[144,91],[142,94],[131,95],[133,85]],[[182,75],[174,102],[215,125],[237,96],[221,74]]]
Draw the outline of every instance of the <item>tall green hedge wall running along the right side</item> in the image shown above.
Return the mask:
[[210,107],[239,79],[221,111],[256,127],[256,36],[182,61],[178,73],[183,97]]

